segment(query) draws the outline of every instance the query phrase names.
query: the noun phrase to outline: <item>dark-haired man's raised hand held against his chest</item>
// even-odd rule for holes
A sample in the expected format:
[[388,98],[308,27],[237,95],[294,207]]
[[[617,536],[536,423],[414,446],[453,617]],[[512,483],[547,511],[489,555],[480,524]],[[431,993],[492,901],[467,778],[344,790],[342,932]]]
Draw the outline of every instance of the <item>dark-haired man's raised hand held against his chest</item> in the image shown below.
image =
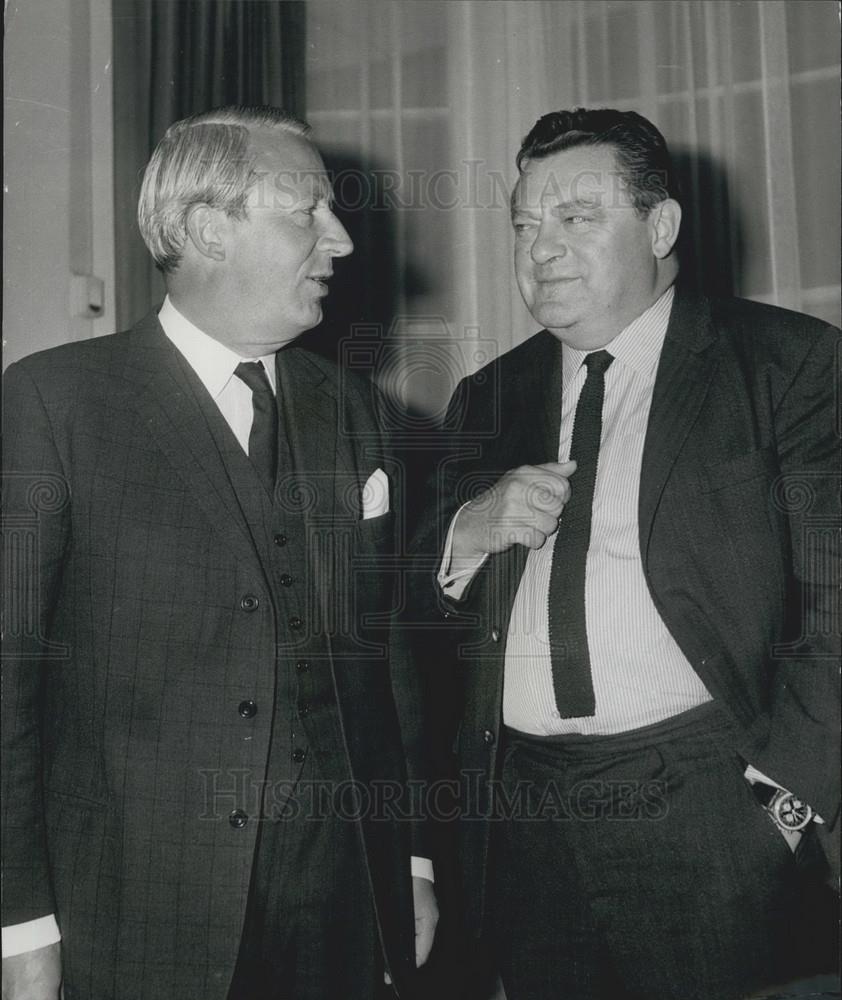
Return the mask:
[[459,512],[451,567],[513,545],[540,549],[558,528],[575,471],[575,462],[547,462],[521,465],[501,476]]

